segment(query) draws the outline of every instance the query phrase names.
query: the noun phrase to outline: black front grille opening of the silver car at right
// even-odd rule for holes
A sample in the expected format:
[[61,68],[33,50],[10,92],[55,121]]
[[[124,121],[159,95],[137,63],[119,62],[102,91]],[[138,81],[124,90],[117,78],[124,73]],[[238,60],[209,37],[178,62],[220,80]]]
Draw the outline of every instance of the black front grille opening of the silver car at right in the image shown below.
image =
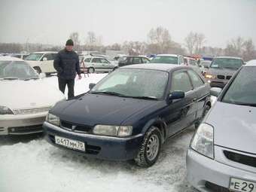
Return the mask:
[[227,157],[227,159],[233,160],[236,163],[242,163],[246,166],[256,167],[256,157],[251,157],[244,154],[236,154],[231,151],[224,151],[224,155]]

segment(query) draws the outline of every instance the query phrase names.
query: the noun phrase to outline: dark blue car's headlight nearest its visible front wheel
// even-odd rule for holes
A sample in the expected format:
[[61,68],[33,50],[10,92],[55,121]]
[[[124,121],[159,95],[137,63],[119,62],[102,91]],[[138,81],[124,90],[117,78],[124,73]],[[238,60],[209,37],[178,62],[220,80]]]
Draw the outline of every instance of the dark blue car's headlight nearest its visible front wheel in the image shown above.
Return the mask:
[[93,128],[93,133],[102,136],[131,136],[133,126],[111,126],[111,125],[96,125]]

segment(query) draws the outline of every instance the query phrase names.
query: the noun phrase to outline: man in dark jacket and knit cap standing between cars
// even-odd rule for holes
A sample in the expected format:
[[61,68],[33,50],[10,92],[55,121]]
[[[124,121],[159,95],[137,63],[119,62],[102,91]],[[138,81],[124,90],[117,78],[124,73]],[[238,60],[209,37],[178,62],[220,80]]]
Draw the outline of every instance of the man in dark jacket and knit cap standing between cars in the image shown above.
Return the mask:
[[59,90],[65,93],[68,85],[68,98],[74,97],[75,76],[81,79],[78,54],[73,50],[74,43],[72,39],[66,41],[66,48],[60,50],[54,59],[53,66],[58,74]]

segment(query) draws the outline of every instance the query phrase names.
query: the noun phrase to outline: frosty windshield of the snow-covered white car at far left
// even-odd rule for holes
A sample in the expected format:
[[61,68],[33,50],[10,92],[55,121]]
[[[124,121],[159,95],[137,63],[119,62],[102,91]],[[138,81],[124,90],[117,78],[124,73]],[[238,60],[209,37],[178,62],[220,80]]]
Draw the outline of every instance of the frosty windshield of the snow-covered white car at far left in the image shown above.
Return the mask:
[[0,61],[0,79],[29,80],[38,78],[38,74],[23,61]]

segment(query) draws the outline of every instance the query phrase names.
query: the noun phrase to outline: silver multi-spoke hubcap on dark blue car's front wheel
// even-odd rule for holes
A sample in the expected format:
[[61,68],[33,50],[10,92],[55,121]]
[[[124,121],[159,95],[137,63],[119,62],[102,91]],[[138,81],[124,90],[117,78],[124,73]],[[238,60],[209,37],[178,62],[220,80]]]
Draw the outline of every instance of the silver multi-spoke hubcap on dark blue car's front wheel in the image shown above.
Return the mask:
[[159,151],[159,138],[157,135],[152,135],[150,139],[148,139],[148,145],[147,145],[147,157],[148,160],[154,160],[154,158],[157,157],[158,151]]

